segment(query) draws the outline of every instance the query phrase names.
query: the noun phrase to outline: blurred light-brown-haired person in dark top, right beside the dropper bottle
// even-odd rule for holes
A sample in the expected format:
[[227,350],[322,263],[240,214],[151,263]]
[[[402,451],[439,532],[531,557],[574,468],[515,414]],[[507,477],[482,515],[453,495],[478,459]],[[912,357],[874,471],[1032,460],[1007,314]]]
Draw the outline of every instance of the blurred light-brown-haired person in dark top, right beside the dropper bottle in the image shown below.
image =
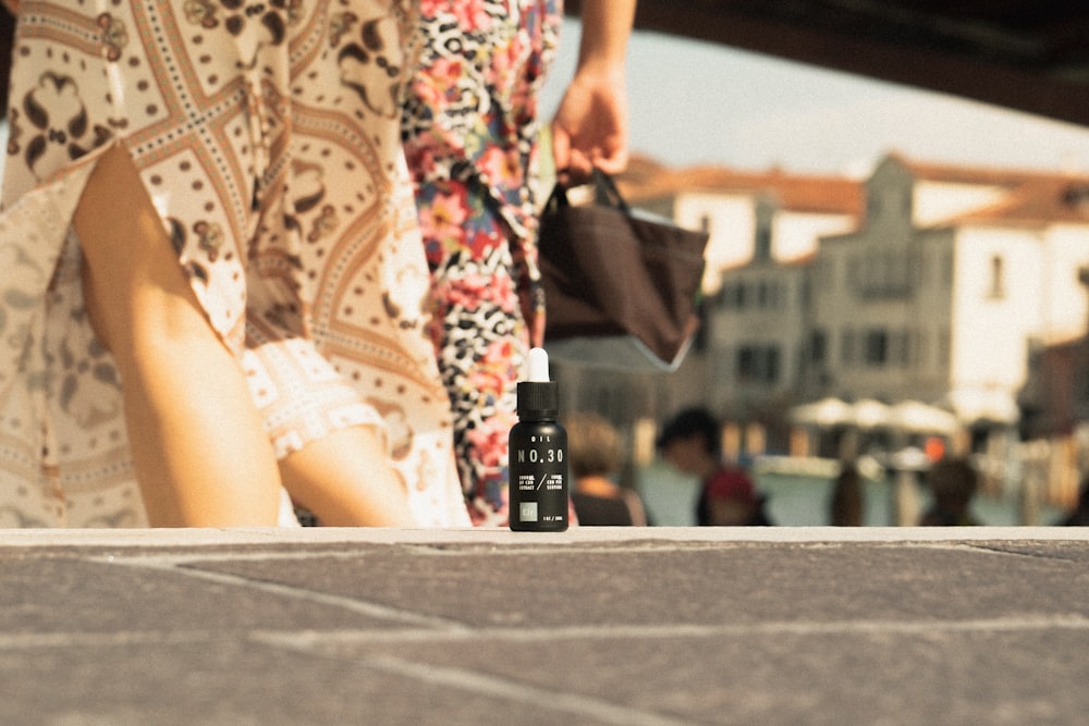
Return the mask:
[[589,527],[645,526],[647,516],[639,495],[620,487],[620,433],[597,414],[572,414],[564,420],[567,457],[574,487],[572,504],[578,524]]

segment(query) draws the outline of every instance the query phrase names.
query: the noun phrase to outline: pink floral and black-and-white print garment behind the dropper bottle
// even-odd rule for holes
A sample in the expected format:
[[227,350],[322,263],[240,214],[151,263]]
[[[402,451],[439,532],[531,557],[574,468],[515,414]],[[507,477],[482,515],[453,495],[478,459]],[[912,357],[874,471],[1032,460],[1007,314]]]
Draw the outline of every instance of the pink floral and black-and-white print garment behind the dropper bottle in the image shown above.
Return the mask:
[[432,337],[474,521],[506,521],[515,383],[543,334],[538,91],[561,0],[421,0],[404,140],[431,270]]

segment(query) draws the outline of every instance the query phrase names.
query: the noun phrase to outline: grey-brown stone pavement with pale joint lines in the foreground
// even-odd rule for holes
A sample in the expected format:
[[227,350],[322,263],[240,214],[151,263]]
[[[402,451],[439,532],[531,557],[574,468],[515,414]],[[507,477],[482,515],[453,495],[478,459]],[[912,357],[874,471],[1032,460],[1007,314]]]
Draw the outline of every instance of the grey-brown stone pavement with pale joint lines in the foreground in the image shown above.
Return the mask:
[[0,724],[1080,724],[1081,529],[0,532]]

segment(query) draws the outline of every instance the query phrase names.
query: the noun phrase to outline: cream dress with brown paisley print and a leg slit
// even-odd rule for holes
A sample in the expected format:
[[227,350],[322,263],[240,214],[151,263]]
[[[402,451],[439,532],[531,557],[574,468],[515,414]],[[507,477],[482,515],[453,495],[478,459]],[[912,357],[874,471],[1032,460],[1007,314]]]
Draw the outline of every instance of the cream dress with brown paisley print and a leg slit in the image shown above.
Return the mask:
[[146,521],[71,227],[114,145],[277,454],[379,427],[420,522],[468,524],[399,136],[414,15],[404,0],[23,1],[0,212],[0,526]]

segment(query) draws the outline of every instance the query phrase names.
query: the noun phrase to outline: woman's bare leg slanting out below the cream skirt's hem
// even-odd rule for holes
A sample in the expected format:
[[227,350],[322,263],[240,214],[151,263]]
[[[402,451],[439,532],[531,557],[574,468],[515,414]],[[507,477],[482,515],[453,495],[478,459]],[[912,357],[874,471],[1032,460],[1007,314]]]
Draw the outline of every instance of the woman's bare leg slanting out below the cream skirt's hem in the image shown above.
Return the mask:
[[404,484],[375,429],[337,431],[280,464],[292,497],[328,527],[415,527]]

